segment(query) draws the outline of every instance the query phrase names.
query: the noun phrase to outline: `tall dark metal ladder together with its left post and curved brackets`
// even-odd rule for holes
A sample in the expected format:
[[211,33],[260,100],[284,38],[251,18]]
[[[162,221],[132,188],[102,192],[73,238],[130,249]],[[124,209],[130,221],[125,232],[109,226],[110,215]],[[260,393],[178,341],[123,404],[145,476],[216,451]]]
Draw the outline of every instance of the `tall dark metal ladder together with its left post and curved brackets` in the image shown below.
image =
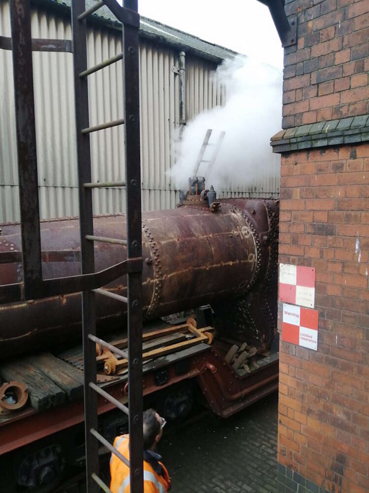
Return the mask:
[[[106,5],[123,24],[123,53],[87,69],[86,18]],[[30,0],[10,2],[11,47],[15,99],[15,121],[19,176],[22,235],[23,282],[0,285],[0,303],[35,300],[82,291],[83,351],[85,370],[85,434],[87,492],[110,489],[99,477],[98,446],[107,447],[130,469],[131,491],[143,493],[143,426],[142,426],[142,237],[141,176],[139,128],[139,62],[137,0],[99,0],[86,10],[85,0],[72,0],[73,64],[76,101],[78,184],[81,233],[82,274],[72,277],[43,279],[38,198],[37,152],[35,135],[32,50],[71,51],[69,40],[31,39]],[[5,39],[7,41],[7,39]],[[8,43],[9,44],[9,43]],[[87,77],[94,71],[123,59],[124,118],[90,127]],[[93,183],[91,179],[90,133],[124,123],[126,181]],[[93,234],[92,189],[126,186],[126,240],[101,238]],[[94,271],[94,242],[126,245],[127,259],[99,272]],[[5,263],[18,262],[18,252],[6,252]],[[47,253],[47,252],[46,252]],[[95,293],[112,296],[101,286],[127,274],[127,298],[114,295],[127,304],[128,353],[96,337]],[[96,385],[96,343],[128,359],[128,407]],[[128,415],[129,461],[98,431],[97,398],[113,403]],[[129,408],[129,411],[128,411]]]

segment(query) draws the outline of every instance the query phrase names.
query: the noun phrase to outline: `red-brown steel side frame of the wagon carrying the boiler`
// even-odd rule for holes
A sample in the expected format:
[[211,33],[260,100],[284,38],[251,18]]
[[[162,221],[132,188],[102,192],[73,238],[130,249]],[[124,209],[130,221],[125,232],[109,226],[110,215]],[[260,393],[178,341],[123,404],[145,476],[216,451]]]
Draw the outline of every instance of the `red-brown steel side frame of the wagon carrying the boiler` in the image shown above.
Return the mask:
[[[154,372],[147,372],[144,367],[143,394],[149,395],[158,389],[170,387],[181,381],[194,378],[198,381],[204,396],[212,411],[221,417],[228,417],[235,412],[252,404],[263,395],[276,390],[278,385],[278,360],[270,360],[260,369],[246,377],[234,371],[229,364],[224,364],[223,354],[214,347],[201,345],[190,351],[176,355],[168,355],[157,361],[168,371],[168,381],[158,387],[155,383]],[[175,362],[184,358],[186,370],[179,374]],[[122,403],[127,402],[126,377],[119,382],[105,385],[109,394]],[[114,408],[114,405],[104,398],[98,398],[98,414],[103,414]],[[23,411],[9,421],[0,420],[0,455],[22,447],[34,440],[66,429],[84,420],[83,402],[72,402],[68,406],[48,410],[44,413]]]

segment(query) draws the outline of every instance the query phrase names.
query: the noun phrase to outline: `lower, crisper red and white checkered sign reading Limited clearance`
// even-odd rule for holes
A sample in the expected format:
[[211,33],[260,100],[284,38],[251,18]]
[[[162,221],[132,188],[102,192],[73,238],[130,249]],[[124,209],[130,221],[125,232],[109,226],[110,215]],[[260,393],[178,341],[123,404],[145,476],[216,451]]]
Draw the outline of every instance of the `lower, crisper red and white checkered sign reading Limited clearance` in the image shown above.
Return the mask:
[[317,351],[318,311],[283,303],[282,339]]

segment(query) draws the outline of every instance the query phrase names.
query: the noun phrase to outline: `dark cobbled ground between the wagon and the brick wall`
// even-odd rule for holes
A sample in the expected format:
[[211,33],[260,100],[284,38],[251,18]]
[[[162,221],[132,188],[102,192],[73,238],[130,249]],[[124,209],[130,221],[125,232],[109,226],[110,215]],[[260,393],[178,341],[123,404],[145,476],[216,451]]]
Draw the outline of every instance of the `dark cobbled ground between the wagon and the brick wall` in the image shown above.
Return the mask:
[[171,493],[277,493],[277,394],[227,420],[169,429],[159,452]]

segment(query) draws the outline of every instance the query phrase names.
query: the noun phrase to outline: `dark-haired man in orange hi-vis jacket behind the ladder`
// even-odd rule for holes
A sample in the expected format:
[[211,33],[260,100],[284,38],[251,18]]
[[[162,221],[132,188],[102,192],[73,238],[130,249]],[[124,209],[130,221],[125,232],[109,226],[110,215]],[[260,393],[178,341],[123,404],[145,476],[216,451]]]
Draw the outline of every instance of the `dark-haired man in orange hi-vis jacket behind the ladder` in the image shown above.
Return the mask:
[[[156,444],[163,434],[164,418],[148,409],[143,415],[144,422],[144,493],[166,493],[170,490],[169,474],[155,452]],[[129,435],[117,436],[114,447],[129,460]],[[131,493],[129,468],[120,458],[112,454],[110,459],[110,489],[113,493]],[[134,493],[134,492],[132,492]]]

